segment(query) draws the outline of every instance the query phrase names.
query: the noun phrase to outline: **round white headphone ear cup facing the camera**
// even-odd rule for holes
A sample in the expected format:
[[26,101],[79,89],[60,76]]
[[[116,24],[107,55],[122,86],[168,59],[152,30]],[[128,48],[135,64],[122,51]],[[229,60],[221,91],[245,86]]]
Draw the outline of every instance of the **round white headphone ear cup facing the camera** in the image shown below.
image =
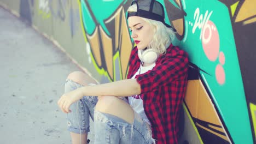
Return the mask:
[[144,63],[154,63],[158,57],[159,53],[152,49],[148,49],[142,53],[142,60]]

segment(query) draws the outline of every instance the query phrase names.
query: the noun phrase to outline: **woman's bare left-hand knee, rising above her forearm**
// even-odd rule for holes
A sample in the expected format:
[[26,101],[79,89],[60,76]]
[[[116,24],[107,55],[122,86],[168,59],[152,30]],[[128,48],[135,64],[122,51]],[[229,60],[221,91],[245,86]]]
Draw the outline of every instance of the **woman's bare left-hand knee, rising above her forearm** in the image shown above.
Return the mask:
[[97,83],[94,79],[92,79],[92,77],[86,73],[83,73],[82,71],[73,71],[68,75],[67,79],[77,82],[83,86],[87,86],[89,83]]

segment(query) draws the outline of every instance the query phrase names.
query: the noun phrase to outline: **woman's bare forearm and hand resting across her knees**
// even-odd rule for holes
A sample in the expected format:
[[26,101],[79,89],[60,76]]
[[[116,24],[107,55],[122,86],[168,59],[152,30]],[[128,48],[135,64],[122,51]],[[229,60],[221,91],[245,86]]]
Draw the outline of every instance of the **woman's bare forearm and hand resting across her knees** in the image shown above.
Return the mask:
[[140,93],[141,86],[136,79],[127,79],[101,85],[80,87],[63,94],[57,104],[63,112],[68,113],[70,112],[69,106],[84,96],[113,95],[116,97],[126,97]]

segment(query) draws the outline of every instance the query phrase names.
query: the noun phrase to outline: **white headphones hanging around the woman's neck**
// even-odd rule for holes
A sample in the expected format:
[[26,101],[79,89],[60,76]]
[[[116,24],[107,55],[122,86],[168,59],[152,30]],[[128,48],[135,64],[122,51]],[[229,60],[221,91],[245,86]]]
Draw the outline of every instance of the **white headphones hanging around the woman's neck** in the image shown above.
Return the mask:
[[154,63],[158,59],[159,55],[160,53],[153,49],[138,50],[138,57],[144,63]]

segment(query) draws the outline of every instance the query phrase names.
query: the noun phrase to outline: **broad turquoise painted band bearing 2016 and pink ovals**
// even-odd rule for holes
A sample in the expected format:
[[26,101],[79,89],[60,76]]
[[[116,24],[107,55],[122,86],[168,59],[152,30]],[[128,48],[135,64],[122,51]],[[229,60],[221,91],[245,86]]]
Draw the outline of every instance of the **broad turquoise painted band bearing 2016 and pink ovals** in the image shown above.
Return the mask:
[[184,38],[176,39],[175,44],[189,53],[190,62],[209,74],[200,72],[234,143],[253,143],[229,8],[219,1],[179,2],[186,5],[187,15]]

